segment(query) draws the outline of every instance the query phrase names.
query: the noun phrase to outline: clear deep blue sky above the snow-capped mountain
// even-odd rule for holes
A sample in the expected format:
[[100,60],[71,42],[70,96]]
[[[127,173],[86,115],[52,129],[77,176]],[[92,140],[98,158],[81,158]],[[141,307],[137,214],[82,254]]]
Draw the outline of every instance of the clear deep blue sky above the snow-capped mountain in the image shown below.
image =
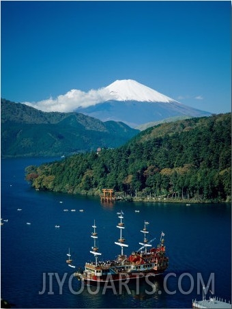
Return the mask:
[[1,97],[37,102],[117,79],[231,111],[231,1],[1,1]]

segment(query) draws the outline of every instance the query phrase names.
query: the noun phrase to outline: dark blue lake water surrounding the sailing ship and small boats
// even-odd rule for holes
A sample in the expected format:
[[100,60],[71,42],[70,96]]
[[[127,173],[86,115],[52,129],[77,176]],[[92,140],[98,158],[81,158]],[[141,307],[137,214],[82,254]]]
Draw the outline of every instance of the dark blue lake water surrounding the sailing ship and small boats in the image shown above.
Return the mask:
[[[1,218],[8,219],[1,226],[1,297],[14,308],[192,308],[192,299],[202,299],[202,283],[208,282],[216,296],[231,300],[230,204],[111,205],[99,198],[35,191],[25,181],[25,167],[50,160],[1,159]],[[96,219],[101,259],[115,258],[121,209],[129,244],[125,253],[139,249],[147,220],[154,245],[165,233],[169,269],[152,285],[134,283],[121,291],[83,288],[66,263],[68,248],[76,267],[92,259],[90,233]],[[58,283],[62,279],[63,285]],[[43,280],[46,288],[40,293]]]

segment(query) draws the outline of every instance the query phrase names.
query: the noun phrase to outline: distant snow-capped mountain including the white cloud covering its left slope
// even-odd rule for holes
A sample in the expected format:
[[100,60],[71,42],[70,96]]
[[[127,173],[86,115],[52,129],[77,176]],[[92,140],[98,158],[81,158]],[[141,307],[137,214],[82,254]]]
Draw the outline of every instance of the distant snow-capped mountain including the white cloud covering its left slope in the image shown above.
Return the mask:
[[132,79],[117,80],[89,92],[73,89],[57,98],[24,104],[41,111],[76,111],[102,121],[124,122],[133,128],[176,116],[203,117],[210,114],[183,105]]

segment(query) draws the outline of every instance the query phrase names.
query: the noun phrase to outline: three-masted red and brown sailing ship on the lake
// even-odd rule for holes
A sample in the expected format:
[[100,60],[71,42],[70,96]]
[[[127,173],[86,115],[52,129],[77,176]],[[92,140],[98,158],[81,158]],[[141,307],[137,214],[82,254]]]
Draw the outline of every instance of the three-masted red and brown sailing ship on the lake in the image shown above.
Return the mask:
[[132,252],[130,256],[124,254],[124,248],[128,247],[126,239],[123,236],[124,225],[124,213],[121,211],[117,213],[120,221],[117,224],[119,228],[119,239],[115,241],[115,244],[121,247],[121,252],[114,260],[98,261],[98,257],[102,254],[98,252],[97,239],[98,233],[96,232],[96,223],[94,220],[93,232],[91,238],[93,238],[93,247],[91,247],[90,253],[93,254],[95,262],[85,263],[85,270],[74,273],[74,276],[78,280],[83,280],[86,284],[101,284],[105,282],[129,282],[130,280],[136,280],[147,277],[154,277],[162,274],[169,266],[169,258],[166,256],[166,248],[164,246],[164,232],[161,232],[160,243],[157,247],[151,247],[151,241],[148,241],[147,225],[149,222],[145,221],[143,230],[143,241],[139,243],[141,248]]

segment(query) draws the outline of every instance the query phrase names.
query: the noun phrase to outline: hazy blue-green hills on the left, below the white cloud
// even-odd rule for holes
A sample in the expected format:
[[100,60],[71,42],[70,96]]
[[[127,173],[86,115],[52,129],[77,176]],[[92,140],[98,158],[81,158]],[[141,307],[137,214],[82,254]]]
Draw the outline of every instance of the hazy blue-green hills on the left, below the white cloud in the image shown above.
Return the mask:
[[101,122],[82,113],[46,113],[1,99],[2,157],[55,157],[115,148],[138,132],[122,122]]

